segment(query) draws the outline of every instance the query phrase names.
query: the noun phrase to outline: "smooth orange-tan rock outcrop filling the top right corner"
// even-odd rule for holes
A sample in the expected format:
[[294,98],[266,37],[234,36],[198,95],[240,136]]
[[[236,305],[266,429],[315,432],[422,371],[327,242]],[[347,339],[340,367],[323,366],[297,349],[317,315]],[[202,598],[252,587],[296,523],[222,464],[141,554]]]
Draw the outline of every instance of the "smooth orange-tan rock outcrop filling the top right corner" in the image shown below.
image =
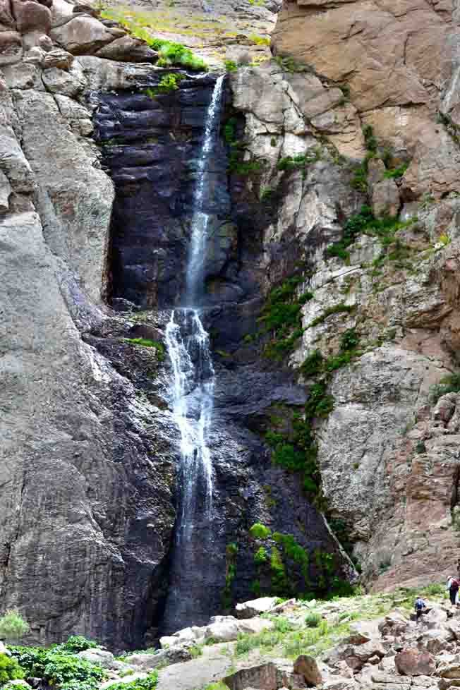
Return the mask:
[[[459,191],[458,32],[450,5],[286,0],[272,35],[287,55],[341,88],[361,123],[411,159],[407,199]],[[440,113],[441,116],[437,116]]]

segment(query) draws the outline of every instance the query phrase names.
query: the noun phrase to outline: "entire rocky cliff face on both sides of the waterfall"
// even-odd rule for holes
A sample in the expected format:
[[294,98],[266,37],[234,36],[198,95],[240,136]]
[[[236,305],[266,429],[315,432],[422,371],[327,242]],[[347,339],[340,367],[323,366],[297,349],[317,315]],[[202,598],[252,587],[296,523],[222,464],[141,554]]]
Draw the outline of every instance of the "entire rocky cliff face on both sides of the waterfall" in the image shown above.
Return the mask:
[[164,622],[164,335],[217,75],[156,66],[86,6],[0,0],[0,607],[30,641],[140,648],[253,594],[343,590],[349,556],[375,589],[456,568],[457,14],[285,1],[275,58],[226,78],[203,209],[212,540],[198,523],[193,607]]

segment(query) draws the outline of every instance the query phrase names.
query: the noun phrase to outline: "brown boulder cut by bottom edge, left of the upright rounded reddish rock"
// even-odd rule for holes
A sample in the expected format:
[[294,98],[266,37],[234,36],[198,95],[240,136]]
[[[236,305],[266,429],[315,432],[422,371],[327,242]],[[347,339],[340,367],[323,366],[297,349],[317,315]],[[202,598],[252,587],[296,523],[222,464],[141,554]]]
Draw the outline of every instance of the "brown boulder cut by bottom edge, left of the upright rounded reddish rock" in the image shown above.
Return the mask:
[[224,683],[230,690],[278,690],[284,686],[289,688],[305,688],[302,676],[293,672],[291,665],[268,662],[250,668],[243,668],[224,678]]

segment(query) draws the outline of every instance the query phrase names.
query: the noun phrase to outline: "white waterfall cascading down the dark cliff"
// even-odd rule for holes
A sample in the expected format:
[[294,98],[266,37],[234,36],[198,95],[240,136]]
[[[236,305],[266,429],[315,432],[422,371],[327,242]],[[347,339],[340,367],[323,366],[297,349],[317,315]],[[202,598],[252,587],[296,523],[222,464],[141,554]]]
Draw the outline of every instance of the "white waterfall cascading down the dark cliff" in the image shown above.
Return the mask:
[[[205,133],[196,171],[186,295],[166,330],[173,370],[171,406],[181,432],[181,497],[171,581],[164,612],[165,631],[198,622],[193,588],[206,587],[212,557],[212,460],[207,444],[214,394],[210,341],[200,318],[204,265],[210,215],[205,211],[207,167],[219,130],[224,76],[217,79],[207,110]],[[198,535],[198,539],[193,539]]]

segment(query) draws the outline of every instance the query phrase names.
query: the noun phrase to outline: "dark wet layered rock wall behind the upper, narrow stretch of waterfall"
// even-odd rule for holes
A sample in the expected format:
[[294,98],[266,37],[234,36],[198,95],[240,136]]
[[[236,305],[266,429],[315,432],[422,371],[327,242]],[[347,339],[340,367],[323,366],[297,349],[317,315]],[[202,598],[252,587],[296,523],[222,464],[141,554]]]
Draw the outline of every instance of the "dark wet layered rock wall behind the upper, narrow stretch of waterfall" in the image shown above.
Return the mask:
[[[116,185],[111,224],[111,296],[143,308],[180,302],[193,212],[195,172],[212,95],[212,78],[183,79],[178,90],[101,96],[97,136]],[[237,229],[230,219],[226,152],[219,141],[209,162],[211,214],[205,276],[229,283]],[[233,270],[234,272],[234,270]]]

